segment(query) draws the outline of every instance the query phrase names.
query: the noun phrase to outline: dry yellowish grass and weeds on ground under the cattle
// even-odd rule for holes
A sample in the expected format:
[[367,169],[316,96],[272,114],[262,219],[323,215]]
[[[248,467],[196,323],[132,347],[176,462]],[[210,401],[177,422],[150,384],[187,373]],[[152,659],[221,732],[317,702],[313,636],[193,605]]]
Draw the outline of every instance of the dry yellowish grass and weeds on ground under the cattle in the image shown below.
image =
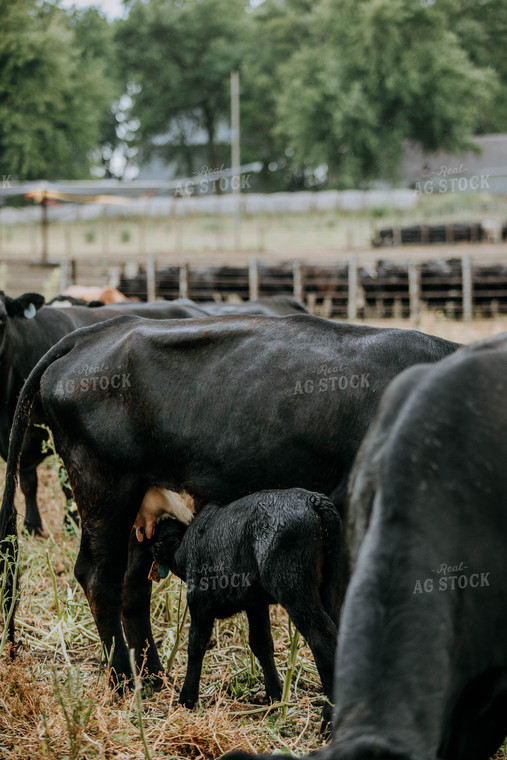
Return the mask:
[[[463,325],[426,314],[420,329],[469,342],[507,329],[507,318]],[[0,475],[4,471],[2,464]],[[272,608],[272,627],[282,679],[293,667],[286,705],[262,704],[264,685],[245,646],[244,615],[215,623],[198,707],[177,704],[189,621],[183,585],[174,577],[155,584],[152,600],[155,639],[167,666],[164,687],[144,699],[139,688],[113,695],[95,624],[73,577],[79,532],[62,529],[64,497],[54,459],[39,468],[39,482],[46,536],[21,538],[19,654],[0,661],[2,760],[207,760],[233,748],[302,755],[322,745],[315,664],[280,607]],[[17,506],[22,511],[19,497]],[[507,745],[494,757],[507,760]]]

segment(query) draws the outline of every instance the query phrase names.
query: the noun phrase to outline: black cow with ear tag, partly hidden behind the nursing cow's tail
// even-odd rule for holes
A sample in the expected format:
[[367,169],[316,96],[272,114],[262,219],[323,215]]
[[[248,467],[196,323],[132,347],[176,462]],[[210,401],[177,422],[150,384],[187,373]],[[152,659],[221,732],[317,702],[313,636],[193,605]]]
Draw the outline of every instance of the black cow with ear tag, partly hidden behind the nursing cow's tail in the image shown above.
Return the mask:
[[[16,400],[24,381],[41,356],[76,328],[103,322],[119,314],[138,314],[150,319],[181,319],[206,316],[207,312],[187,299],[171,303],[131,302],[102,308],[84,305],[58,309],[44,306],[44,297],[38,293],[9,298],[0,291],[0,455],[4,459],[7,459]],[[92,357],[90,361],[90,366],[95,367]],[[36,404],[20,466],[20,485],[26,502],[25,525],[34,533],[42,530],[37,507],[37,465],[46,457],[42,453],[42,443],[47,438],[45,431],[34,425],[44,422],[39,404]],[[70,493],[67,496],[70,497]]]

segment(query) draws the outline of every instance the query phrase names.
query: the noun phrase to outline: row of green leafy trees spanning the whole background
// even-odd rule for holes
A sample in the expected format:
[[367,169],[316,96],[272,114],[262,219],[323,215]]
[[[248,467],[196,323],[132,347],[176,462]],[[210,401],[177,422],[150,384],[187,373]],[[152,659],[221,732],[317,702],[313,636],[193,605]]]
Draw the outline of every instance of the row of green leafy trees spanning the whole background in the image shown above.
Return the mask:
[[0,173],[111,176],[119,145],[179,176],[229,166],[238,68],[242,161],[265,166],[255,189],[395,179],[404,140],[458,151],[507,128],[505,0],[126,7],[109,23],[57,0],[0,0]]

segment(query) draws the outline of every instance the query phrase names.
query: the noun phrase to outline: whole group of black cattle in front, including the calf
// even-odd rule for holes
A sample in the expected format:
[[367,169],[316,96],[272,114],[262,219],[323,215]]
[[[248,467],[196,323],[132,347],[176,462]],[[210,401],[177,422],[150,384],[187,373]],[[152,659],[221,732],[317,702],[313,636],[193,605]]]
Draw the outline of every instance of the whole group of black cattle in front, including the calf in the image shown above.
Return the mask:
[[10,611],[18,470],[26,527],[42,529],[43,424],[114,684],[130,649],[160,680],[151,586],[173,572],[191,612],[188,707],[213,620],[239,610],[279,699],[279,602],[334,703],[316,758],[488,760],[507,734],[507,334],[461,346],[290,297],[55,306],[0,297]]

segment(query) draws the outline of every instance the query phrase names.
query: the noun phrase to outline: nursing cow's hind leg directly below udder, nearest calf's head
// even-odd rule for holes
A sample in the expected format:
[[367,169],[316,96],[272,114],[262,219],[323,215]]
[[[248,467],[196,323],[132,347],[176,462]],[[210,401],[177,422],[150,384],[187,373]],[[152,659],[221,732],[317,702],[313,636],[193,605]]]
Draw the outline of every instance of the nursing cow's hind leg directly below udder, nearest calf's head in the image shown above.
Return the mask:
[[136,664],[144,665],[148,673],[163,671],[150,622],[152,583],[148,573],[153,556],[147,541],[140,543],[134,531],[130,533],[128,565],[122,594],[123,629],[129,649],[136,651]]

